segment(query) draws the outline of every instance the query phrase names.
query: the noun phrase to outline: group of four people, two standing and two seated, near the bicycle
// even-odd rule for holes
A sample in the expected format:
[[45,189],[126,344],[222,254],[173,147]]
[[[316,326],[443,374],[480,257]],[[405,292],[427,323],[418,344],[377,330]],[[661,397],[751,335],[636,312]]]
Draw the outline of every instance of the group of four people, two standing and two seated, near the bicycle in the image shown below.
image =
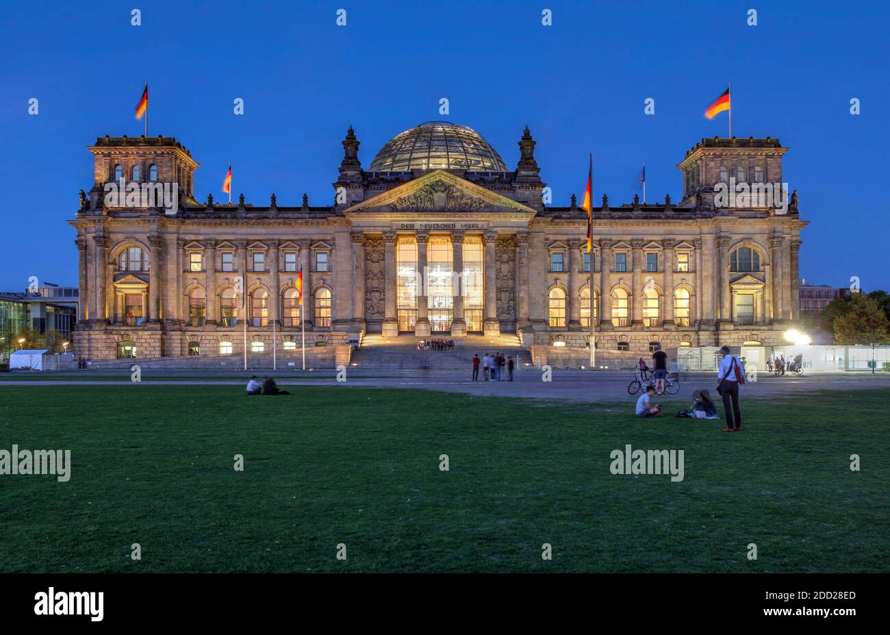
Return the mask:
[[[643,395],[636,400],[636,416],[663,417],[664,411],[657,403],[652,403],[652,397],[663,395],[664,388],[659,393],[659,370],[664,369],[664,377],[667,378],[667,354],[661,353],[660,346],[652,353],[655,363],[653,372],[655,381],[646,387]],[[656,357],[658,355],[658,357]],[[663,355],[663,356],[662,356]],[[649,370],[643,359],[640,359],[640,370]],[[731,354],[729,346],[720,349],[720,364],[717,368],[717,394],[721,396],[726,417],[724,432],[739,432],[741,430],[741,409],[739,406],[739,386],[745,383],[745,364],[735,355]],[[696,390],[692,394],[692,405],[688,410],[677,412],[677,417],[692,417],[694,419],[719,419],[717,406],[711,399],[710,393],[705,388]]]

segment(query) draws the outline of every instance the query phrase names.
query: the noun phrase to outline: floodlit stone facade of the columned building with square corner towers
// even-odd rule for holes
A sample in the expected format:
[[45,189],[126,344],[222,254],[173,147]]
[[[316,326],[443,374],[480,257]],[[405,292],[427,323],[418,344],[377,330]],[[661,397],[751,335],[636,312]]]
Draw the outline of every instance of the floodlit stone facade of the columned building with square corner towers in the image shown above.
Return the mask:
[[[514,171],[481,171],[472,156],[431,151],[410,170],[366,172],[352,128],[343,145],[335,204],[303,197],[286,207],[274,194],[268,205],[219,204],[212,195],[198,203],[198,164],[173,138],[98,139],[93,187],[70,221],[80,256],[76,354],[239,355],[245,321],[255,354],[292,351],[301,326],[309,346],[407,331],[516,333],[525,346],[562,340],[581,349],[592,335],[591,287],[600,351],[773,346],[797,318],[806,222],[796,206],[787,214],[721,208],[713,193],[726,174],[781,183],[787,149],[778,140],[703,140],[678,165],[684,198],[676,205],[666,197],[611,207],[603,196],[591,213],[592,271],[587,212],[574,196],[570,207],[543,204],[528,129]],[[500,161],[492,156],[489,166]],[[116,175],[176,183],[178,209],[110,205]]]

